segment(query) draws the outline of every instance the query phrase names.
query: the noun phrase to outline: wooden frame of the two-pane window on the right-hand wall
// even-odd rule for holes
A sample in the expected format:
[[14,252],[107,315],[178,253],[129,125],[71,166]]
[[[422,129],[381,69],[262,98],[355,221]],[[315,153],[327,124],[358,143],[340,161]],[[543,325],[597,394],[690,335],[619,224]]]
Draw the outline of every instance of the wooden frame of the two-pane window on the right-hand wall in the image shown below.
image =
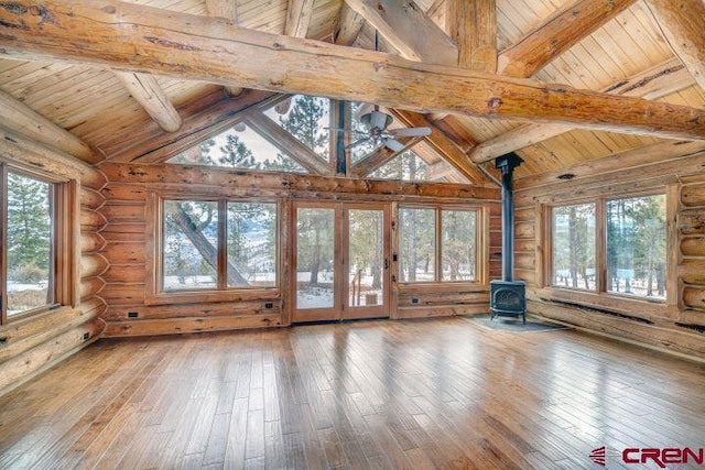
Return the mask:
[[[609,292],[607,291],[607,221],[606,207],[610,200],[629,199],[637,197],[664,196],[665,197],[665,229],[666,229],[666,296],[663,298],[650,298],[644,296]],[[677,260],[670,254],[677,250],[675,228],[672,221],[677,211],[677,185],[666,185],[658,188],[625,193],[619,195],[601,195],[575,200],[566,200],[561,204],[539,204],[536,217],[542,223],[536,237],[536,286],[552,296],[566,302],[578,304],[596,304],[600,306],[618,305],[629,307],[633,303],[653,305],[655,308],[677,305],[677,283],[674,273],[677,270]],[[579,289],[553,285],[553,208],[581,204],[595,204],[595,256],[596,281],[595,289]],[[675,240],[675,241],[674,241]],[[647,307],[647,309],[650,309]]]

